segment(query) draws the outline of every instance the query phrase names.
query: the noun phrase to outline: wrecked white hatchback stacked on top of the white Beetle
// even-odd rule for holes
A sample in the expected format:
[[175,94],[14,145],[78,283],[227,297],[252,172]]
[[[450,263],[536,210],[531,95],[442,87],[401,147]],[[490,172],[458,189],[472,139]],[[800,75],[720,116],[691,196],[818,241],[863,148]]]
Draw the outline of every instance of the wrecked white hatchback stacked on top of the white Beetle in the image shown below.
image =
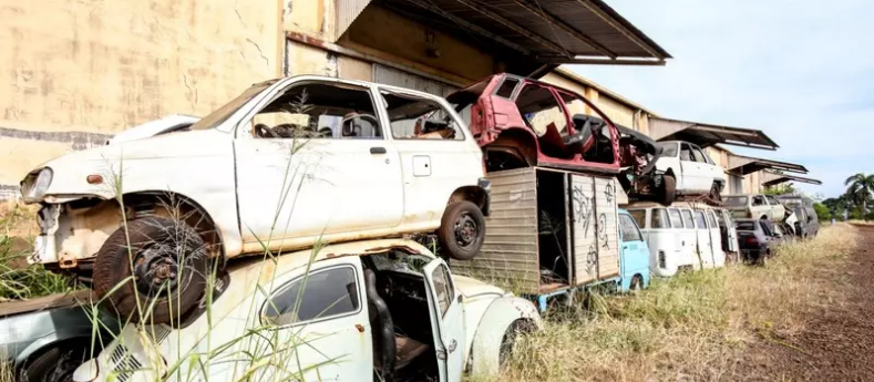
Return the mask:
[[470,259],[483,242],[483,154],[441,97],[305,75],[255,84],[184,124],[27,175],[23,199],[42,205],[31,261],[92,281],[121,316],[145,299],[167,322],[158,291],[184,313],[213,260],[434,230],[443,252]]

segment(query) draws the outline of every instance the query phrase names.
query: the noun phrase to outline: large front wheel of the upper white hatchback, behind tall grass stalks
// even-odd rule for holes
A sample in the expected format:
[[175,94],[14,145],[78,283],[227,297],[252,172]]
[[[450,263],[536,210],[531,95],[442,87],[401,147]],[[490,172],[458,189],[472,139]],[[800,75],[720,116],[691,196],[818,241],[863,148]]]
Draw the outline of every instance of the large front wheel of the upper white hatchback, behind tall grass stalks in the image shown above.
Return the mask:
[[107,311],[131,322],[177,324],[203,296],[207,271],[206,245],[194,228],[146,217],[128,223],[127,235],[119,228],[103,244],[94,264],[94,291]]

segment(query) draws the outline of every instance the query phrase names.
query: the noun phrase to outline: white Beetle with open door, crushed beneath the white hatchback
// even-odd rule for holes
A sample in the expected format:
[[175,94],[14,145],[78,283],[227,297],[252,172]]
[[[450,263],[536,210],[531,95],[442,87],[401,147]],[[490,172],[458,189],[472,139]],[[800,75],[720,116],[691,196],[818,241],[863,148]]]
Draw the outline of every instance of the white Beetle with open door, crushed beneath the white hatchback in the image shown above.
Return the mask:
[[[495,375],[534,304],[415,241],[232,265],[181,329],[128,324],[74,381],[444,381]],[[209,307],[209,312],[206,310]]]

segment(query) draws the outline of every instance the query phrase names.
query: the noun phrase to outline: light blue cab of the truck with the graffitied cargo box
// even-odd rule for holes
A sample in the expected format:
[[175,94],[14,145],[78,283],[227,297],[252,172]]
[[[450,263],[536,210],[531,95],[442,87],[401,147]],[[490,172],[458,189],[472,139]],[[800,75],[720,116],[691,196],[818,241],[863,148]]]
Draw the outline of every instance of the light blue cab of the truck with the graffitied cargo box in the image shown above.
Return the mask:
[[619,209],[619,289],[644,289],[649,286],[649,247],[637,221],[625,209]]

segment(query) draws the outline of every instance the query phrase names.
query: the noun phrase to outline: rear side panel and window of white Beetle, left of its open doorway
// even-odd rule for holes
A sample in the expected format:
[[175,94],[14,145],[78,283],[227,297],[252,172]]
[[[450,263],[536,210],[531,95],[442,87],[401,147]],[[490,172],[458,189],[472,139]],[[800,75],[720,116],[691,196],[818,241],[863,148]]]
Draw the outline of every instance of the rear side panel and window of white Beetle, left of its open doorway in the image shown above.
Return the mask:
[[[301,266],[260,283],[253,329],[240,341],[240,355],[263,364],[250,380],[370,380],[373,328],[359,257]],[[245,370],[238,365],[236,376]]]

